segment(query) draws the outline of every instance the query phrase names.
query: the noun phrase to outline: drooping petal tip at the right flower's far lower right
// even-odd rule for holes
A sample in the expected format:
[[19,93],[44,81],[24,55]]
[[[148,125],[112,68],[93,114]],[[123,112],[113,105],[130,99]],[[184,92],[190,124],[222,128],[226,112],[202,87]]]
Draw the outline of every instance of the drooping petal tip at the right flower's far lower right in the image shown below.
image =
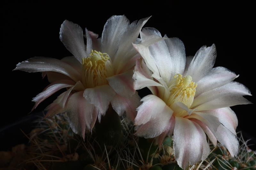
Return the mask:
[[237,156],[239,142],[234,133],[228,130],[225,126],[220,125],[216,133],[216,138],[220,144],[228,149],[228,152],[232,157]]

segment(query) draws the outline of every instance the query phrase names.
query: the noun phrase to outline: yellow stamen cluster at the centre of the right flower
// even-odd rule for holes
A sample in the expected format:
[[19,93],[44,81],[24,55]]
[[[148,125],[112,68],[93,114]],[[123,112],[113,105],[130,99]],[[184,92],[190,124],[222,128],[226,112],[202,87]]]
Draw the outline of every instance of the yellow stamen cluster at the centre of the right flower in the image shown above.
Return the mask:
[[191,76],[182,77],[176,74],[168,87],[171,92],[167,100],[168,106],[170,107],[175,102],[182,102],[189,108],[194,100],[196,86]]

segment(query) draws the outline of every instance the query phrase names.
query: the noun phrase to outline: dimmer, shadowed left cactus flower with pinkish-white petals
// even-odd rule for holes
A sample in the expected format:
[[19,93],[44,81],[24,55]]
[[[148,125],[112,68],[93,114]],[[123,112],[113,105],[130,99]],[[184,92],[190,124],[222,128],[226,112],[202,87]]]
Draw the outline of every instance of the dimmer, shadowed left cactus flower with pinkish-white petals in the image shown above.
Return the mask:
[[[133,68],[139,55],[132,43],[142,43],[137,37],[148,18],[130,24],[125,16],[112,16],[101,38],[85,29],[86,45],[82,28],[65,20],[60,40],[74,56],[61,60],[33,57],[14,69],[47,75],[51,84],[33,98],[34,108],[54,92],[67,88],[46,108],[46,116],[67,112],[72,130],[82,137],[85,131],[92,130],[97,117],[100,121],[105,115],[109,103],[119,115],[126,112],[133,121],[140,97],[133,89]],[[143,44],[157,39],[149,36]]]

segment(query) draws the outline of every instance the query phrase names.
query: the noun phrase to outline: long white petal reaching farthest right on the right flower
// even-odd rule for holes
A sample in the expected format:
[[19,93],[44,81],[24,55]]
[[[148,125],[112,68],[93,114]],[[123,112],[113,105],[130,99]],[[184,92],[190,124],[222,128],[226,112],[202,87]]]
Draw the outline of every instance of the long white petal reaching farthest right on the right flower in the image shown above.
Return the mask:
[[248,88],[240,83],[231,82],[227,85],[223,85],[211,91],[200,94],[194,98],[191,108],[196,108],[198,111],[200,111],[241,104],[250,104],[251,102],[243,97],[245,95],[251,96]]

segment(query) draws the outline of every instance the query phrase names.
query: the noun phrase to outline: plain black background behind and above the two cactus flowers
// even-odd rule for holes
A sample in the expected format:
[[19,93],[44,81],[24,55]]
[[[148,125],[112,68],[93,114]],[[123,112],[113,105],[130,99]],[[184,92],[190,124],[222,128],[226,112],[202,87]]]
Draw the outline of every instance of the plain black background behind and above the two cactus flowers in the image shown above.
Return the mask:
[[[71,55],[59,40],[60,25],[65,19],[100,35],[112,15],[124,14],[130,21],[152,15],[144,27],[155,27],[168,37],[179,37],[185,44],[187,55],[195,55],[201,46],[215,43],[215,66],[239,74],[236,81],[255,94],[255,4],[250,1],[243,4],[213,1],[207,4],[183,1],[52,4],[27,1],[5,2],[1,6],[0,127],[27,115],[34,105],[32,97],[48,85],[40,73],[12,71],[16,64],[33,56],[61,59]],[[42,102],[34,112],[43,110],[58,94],[60,92]],[[145,95],[146,91],[140,94]],[[246,98],[254,103],[254,96]],[[255,137],[254,105],[231,108],[238,117],[239,129]]]

